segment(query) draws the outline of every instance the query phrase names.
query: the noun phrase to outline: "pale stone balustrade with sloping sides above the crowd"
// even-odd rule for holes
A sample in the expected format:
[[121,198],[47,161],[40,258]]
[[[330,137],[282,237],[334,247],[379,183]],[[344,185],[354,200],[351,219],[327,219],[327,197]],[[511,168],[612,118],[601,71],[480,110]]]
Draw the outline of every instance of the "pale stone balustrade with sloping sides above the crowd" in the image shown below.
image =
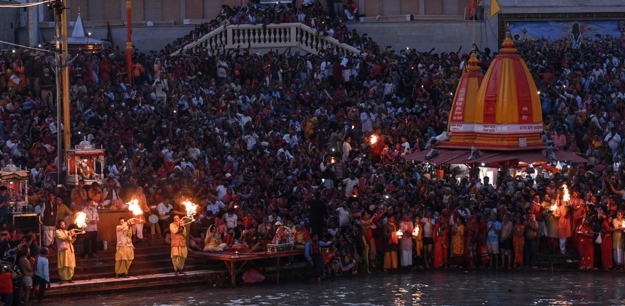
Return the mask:
[[305,52],[317,54],[320,50],[332,50],[334,53],[359,54],[351,45],[342,44],[336,39],[317,33],[306,24],[268,24],[262,25],[229,25],[217,27],[197,41],[185,45],[171,55],[192,50],[193,53],[208,52],[215,54],[221,50],[231,49],[278,49],[297,47]]

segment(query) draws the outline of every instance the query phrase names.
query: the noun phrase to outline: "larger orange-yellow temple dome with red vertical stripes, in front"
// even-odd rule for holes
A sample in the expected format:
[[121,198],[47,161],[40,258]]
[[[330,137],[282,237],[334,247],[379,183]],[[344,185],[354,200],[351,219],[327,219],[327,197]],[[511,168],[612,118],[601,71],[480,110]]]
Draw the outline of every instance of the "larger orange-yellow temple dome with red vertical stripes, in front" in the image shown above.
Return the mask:
[[543,146],[541,102],[510,32],[477,93],[475,145],[513,150]]

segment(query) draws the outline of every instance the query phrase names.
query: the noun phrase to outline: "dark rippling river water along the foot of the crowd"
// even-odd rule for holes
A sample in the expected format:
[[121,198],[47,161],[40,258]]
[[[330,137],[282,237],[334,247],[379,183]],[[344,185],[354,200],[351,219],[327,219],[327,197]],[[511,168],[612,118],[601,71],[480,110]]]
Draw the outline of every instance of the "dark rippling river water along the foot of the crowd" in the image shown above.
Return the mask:
[[293,280],[236,289],[78,299],[58,305],[625,305],[625,277],[617,272],[421,270],[334,277],[321,284]]

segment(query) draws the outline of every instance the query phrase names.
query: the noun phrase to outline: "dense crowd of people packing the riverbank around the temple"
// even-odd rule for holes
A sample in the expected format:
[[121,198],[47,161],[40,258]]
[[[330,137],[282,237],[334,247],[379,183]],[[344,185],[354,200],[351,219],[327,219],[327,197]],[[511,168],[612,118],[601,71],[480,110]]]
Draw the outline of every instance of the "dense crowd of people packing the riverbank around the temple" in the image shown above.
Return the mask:
[[[315,7],[280,9],[264,20],[291,14],[307,22],[324,15]],[[252,11],[224,8],[222,19]],[[293,16],[300,11],[307,17]],[[139,199],[143,222],[152,214],[158,221],[132,224],[131,234],[121,229],[119,237],[131,237],[124,246],[149,237],[195,250],[256,252],[282,233],[307,250],[313,266],[322,258],[324,266],[352,273],[534,267],[538,252],[574,252],[581,269],[622,269],[622,39],[583,38],[575,49],[570,38],[515,37],[541,92],[543,138],[585,152],[589,161],[552,175],[500,171],[491,183],[476,173],[438,178],[431,165],[402,158],[446,130],[468,54],[381,50],[364,34],[344,32],[366,52],[137,53],[132,85],[123,50],[79,52],[69,67],[67,128],[73,144],[86,138],[106,150],[106,182],[74,189],[51,175],[66,167],[56,159],[54,57],[29,49],[3,54],[0,165],[29,169],[29,209],[42,214],[43,247],[54,246],[58,221],[69,225],[79,211],[125,209]],[[496,54],[484,48],[477,55],[486,72]],[[22,254],[32,265],[22,250],[42,254],[41,247],[32,233],[6,224],[11,197],[0,191],[5,259],[21,265]],[[185,216],[184,199],[199,204],[199,222],[180,230],[171,224]],[[90,220],[87,232],[97,231]],[[97,256],[95,236],[85,236],[83,256]],[[323,241],[333,243],[317,250]],[[183,255],[186,248],[178,249],[176,261]],[[128,272],[124,262],[119,272]]]

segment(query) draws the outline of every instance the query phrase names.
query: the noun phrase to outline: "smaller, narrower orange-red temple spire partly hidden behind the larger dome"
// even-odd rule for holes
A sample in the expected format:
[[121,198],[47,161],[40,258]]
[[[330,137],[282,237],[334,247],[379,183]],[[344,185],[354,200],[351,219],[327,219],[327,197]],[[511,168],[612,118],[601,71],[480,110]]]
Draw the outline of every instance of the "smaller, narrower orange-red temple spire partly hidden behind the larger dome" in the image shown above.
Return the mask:
[[484,79],[484,75],[478,72],[477,64],[479,61],[473,50],[467,62],[467,71],[462,74],[458,82],[451,113],[449,113],[447,131],[451,132],[450,143],[472,144],[475,140],[473,123],[475,122],[477,92]]

